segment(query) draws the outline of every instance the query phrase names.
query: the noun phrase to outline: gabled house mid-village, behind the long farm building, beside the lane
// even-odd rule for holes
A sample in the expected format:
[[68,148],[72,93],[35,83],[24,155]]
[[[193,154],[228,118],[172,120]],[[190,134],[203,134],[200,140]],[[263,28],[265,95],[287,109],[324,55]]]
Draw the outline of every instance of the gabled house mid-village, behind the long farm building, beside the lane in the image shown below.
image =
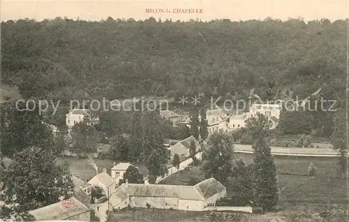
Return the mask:
[[168,150],[170,150],[170,159],[173,159],[174,154],[178,154],[181,159],[190,157],[189,150],[191,148],[191,143],[195,145],[195,153],[198,152],[200,149],[198,141],[194,138],[194,136],[189,136],[188,138],[185,138],[172,146],[170,145],[168,148]]

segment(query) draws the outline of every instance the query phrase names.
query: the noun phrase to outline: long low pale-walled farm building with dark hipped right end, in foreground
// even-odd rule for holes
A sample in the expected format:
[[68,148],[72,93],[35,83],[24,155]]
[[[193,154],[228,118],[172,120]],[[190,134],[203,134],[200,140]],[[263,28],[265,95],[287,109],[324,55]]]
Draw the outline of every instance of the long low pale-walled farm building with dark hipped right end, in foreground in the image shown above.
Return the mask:
[[225,187],[213,177],[195,186],[176,186],[163,184],[128,184],[117,187],[110,198],[113,209],[131,207],[150,207],[158,209],[179,209],[203,211],[225,196]]

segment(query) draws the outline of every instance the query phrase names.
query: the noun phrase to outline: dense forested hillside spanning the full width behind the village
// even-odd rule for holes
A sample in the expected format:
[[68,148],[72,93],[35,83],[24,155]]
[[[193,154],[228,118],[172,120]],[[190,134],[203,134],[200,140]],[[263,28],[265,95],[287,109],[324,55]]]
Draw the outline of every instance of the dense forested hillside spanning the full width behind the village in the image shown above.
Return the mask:
[[1,24],[1,70],[24,98],[62,102],[173,91],[246,100],[270,82],[343,102],[346,21],[22,19]]

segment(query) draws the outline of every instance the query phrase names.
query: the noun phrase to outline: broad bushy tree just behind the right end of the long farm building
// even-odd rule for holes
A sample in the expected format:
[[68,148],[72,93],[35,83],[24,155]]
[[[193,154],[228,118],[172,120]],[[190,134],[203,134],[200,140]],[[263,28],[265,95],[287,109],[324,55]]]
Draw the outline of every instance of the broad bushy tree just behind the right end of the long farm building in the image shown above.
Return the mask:
[[205,177],[214,177],[226,185],[232,175],[234,138],[228,132],[214,132],[209,136],[207,148],[202,154],[202,171]]

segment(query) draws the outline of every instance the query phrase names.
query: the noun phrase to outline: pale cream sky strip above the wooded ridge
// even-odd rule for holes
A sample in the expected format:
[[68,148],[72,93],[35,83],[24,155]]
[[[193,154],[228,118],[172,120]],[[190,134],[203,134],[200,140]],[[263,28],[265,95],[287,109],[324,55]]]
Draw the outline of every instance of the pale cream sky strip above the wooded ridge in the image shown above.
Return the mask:
[[[147,13],[146,9],[163,9],[166,13]],[[175,13],[174,9],[197,9],[200,14]],[[168,11],[168,13],[167,13]],[[223,0],[163,0],[163,1],[1,1],[1,21],[8,19],[36,19],[68,17],[70,19],[97,20],[108,16],[117,18],[172,19],[173,21],[202,19],[231,19],[234,21],[248,19],[286,20],[289,17],[302,17],[305,21],[327,18],[331,21],[349,17],[349,0],[264,0],[264,1],[223,1]]]

